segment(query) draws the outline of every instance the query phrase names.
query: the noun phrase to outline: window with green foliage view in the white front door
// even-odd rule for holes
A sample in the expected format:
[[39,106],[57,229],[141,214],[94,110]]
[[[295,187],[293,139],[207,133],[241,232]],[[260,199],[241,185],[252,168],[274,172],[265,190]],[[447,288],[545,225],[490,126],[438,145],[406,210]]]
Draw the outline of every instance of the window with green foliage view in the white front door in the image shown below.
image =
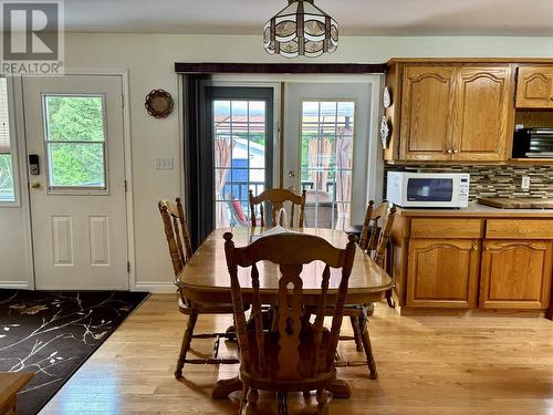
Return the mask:
[[44,95],[50,189],[106,189],[103,95]]

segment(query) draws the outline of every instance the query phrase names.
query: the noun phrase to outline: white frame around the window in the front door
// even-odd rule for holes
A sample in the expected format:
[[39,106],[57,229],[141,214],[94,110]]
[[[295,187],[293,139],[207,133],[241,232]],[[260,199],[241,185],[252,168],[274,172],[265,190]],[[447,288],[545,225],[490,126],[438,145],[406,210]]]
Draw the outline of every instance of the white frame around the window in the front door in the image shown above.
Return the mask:
[[[56,144],[56,143],[75,143],[74,141],[56,141],[56,142],[51,142],[49,141],[49,128],[48,128],[48,114],[46,114],[46,97],[48,96],[70,96],[70,97],[86,97],[86,96],[92,96],[92,97],[101,97],[102,98],[102,117],[103,117],[103,129],[104,129],[104,142],[103,142],[103,148],[104,148],[104,186],[103,187],[88,187],[88,186],[53,186],[51,184],[51,177],[50,177],[50,152],[49,152],[49,144]],[[107,136],[107,108],[106,108],[106,94],[105,93],[59,93],[59,92],[46,92],[46,93],[41,93],[41,105],[42,105],[42,145],[43,145],[43,154],[44,154],[44,176],[45,176],[45,193],[46,195],[74,195],[74,196],[108,196],[111,195],[111,189],[109,189],[109,166],[108,166],[108,159],[109,159],[109,153],[108,153],[108,136]],[[92,144],[98,144],[98,142],[79,142],[79,143],[92,143]]]

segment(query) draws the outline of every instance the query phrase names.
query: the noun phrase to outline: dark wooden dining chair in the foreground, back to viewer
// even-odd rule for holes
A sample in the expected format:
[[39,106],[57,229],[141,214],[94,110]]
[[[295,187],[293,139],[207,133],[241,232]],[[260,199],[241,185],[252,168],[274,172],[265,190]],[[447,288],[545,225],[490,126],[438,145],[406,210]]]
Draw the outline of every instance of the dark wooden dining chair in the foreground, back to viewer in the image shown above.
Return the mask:
[[[236,248],[232,234],[223,235],[225,253],[230,274],[234,322],[240,351],[240,378],[243,384],[240,413],[254,414],[258,390],[278,395],[279,414],[288,413],[288,393],[316,391],[320,414],[327,414],[326,388],[336,378],[335,353],[347,295],[347,284],[355,258],[356,237],[349,236],[345,249],[333,247],[312,235],[280,234],[259,238],[251,245]],[[302,295],[302,268],[312,261],[322,261],[321,294],[316,319],[305,318]],[[259,293],[260,261],[279,264],[278,303],[273,310],[271,329],[263,325]],[[251,267],[253,328],[249,328],[243,311],[242,288],[238,268]],[[261,264],[262,267],[262,264]],[[331,330],[323,326],[328,281],[332,268],[342,268]]]

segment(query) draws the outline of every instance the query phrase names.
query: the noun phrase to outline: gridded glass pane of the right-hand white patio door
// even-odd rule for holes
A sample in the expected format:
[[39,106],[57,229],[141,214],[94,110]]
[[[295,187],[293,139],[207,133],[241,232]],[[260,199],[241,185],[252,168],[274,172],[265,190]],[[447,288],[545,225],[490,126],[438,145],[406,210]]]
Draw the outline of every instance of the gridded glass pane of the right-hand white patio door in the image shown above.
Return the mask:
[[301,120],[301,185],[305,226],[349,225],[355,102],[304,101]]

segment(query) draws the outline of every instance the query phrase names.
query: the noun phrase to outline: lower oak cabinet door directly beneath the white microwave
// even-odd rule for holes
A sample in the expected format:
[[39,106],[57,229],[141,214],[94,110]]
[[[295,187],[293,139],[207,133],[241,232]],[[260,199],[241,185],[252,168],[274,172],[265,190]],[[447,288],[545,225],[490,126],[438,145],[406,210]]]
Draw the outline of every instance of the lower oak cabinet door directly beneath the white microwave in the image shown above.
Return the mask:
[[473,308],[478,290],[479,248],[478,239],[411,239],[406,304]]

